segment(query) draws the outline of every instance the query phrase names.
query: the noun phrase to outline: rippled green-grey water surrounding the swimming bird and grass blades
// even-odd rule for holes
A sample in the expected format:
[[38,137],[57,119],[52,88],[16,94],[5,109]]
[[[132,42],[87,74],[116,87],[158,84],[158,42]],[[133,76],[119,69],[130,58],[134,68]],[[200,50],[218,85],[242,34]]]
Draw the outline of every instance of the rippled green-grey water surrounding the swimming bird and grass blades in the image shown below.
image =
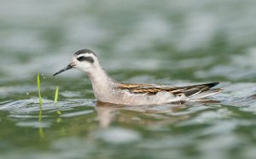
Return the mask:
[[[0,1],[0,158],[255,158],[255,4]],[[80,48],[118,81],[224,92],[215,104],[98,105],[83,73],[52,77]]]

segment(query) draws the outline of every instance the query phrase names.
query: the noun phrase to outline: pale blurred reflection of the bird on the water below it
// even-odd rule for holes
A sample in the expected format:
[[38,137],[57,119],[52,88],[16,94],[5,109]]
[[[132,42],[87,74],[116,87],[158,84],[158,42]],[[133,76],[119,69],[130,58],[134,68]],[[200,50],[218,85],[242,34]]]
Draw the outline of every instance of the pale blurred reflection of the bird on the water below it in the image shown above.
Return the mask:
[[[191,106],[204,106],[219,103],[206,100],[203,103],[178,105],[114,105],[96,102],[97,119],[101,128],[108,128],[112,122],[135,123],[139,125],[170,124],[189,119],[193,112],[187,111]],[[211,107],[205,109],[212,109]]]

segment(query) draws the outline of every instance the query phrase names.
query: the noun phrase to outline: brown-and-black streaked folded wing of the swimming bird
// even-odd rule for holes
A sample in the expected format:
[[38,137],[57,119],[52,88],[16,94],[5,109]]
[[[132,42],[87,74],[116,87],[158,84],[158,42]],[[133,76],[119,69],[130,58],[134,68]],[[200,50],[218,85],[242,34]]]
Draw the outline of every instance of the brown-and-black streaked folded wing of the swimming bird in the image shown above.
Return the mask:
[[[199,85],[191,85],[191,86],[184,86],[184,87],[171,87],[165,85],[153,85],[153,84],[126,84],[120,83],[118,88],[120,89],[127,89],[132,94],[157,94],[161,91],[170,92],[174,95],[186,95],[187,97],[193,94],[199,94],[209,90],[210,88],[218,85],[218,82],[211,82],[206,84],[199,84]],[[216,92],[220,91],[220,88],[211,89]]]

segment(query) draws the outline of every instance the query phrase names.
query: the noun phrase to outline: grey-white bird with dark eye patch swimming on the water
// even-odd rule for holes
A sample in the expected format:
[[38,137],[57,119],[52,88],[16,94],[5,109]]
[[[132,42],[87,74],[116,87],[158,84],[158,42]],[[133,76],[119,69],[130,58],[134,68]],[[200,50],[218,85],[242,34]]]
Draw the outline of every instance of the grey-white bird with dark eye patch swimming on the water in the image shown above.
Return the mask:
[[87,48],[75,52],[72,62],[55,72],[53,76],[74,68],[87,74],[96,100],[102,103],[117,105],[182,104],[188,101],[203,101],[208,96],[223,90],[222,88],[213,88],[219,82],[183,87],[117,82],[102,68],[97,55]]

